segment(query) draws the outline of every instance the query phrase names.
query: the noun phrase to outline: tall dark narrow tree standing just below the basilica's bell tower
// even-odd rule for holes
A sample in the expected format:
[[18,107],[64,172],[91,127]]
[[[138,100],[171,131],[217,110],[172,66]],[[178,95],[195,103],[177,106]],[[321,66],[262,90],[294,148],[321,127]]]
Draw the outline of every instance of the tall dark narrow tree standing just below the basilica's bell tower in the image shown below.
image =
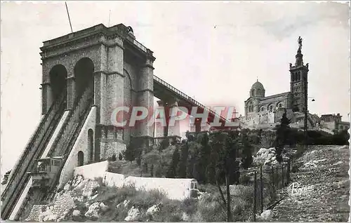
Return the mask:
[[281,163],[283,161],[282,151],[284,145],[289,143],[289,133],[290,133],[290,120],[286,117],[286,109],[280,119],[280,124],[277,126],[277,133],[275,138],[275,151],[277,156],[277,161]]

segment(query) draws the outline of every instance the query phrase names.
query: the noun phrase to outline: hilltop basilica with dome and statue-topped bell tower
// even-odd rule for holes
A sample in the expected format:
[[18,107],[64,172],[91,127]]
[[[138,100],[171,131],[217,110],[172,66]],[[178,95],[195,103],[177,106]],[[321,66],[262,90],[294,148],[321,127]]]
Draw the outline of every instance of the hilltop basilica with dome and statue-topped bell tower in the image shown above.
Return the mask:
[[249,126],[270,126],[282,118],[286,111],[292,121],[303,117],[307,103],[307,74],[308,63],[304,65],[302,41],[298,38],[298,50],[296,53],[295,65],[290,64],[290,91],[277,95],[265,95],[265,88],[258,80],[253,83],[245,103],[245,116],[241,117]]

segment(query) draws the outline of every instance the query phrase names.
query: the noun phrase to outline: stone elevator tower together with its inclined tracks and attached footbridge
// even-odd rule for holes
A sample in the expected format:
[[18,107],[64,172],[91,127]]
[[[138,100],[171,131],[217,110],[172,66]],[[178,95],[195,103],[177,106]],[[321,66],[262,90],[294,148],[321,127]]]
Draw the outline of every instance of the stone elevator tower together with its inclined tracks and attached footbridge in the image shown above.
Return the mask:
[[[114,161],[127,146],[150,147],[154,94],[169,107],[206,109],[153,75],[152,51],[123,24],[95,25],[44,41],[40,49],[43,116],[2,191],[2,219],[25,221],[34,205],[53,200],[77,166]],[[135,106],[149,111],[147,121],[114,126],[117,107],[129,107],[129,113],[117,115],[128,122]],[[180,138],[178,126],[168,127],[164,135]]]

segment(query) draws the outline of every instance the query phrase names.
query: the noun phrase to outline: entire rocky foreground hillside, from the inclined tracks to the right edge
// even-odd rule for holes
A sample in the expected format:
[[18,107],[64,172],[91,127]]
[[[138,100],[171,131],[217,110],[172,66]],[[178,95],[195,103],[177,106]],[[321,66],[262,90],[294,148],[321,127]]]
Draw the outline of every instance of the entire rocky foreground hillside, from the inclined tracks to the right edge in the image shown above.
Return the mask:
[[[171,152],[167,156],[169,154]],[[309,147],[293,161],[291,182],[298,182],[302,187],[313,187],[312,191],[292,195],[291,187],[279,189],[277,198],[284,199],[272,210],[258,215],[256,220],[346,222],[350,211],[349,157],[348,146]],[[253,163],[264,166],[277,164],[274,148],[260,149],[253,157]],[[129,170],[130,166],[122,164],[112,167],[121,172]],[[135,175],[139,171],[135,165]],[[264,188],[268,189],[269,186]],[[134,187],[117,189],[102,184],[101,178],[84,180],[78,175],[55,195],[53,202],[34,205],[27,221],[225,222],[226,208],[216,185],[200,184],[199,189],[197,198],[176,201],[168,199],[158,190],[138,191]],[[222,189],[225,192],[224,186]],[[230,189],[234,221],[252,221],[252,184],[232,186]],[[270,198],[269,190],[264,191],[264,197],[263,203],[267,207],[271,200],[267,200]],[[259,205],[260,202],[256,202]]]

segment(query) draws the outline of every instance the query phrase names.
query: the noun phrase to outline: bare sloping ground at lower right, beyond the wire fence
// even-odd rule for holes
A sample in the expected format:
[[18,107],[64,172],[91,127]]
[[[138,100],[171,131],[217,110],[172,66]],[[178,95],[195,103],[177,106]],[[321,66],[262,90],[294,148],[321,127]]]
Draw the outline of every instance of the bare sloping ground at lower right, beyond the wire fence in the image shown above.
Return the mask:
[[298,195],[291,195],[291,188],[285,188],[281,193],[286,198],[273,209],[273,221],[347,222],[350,212],[349,158],[348,146],[307,149],[296,161],[303,165],[296,173],[291,173],[291,178],[302,187],[314,188]]

